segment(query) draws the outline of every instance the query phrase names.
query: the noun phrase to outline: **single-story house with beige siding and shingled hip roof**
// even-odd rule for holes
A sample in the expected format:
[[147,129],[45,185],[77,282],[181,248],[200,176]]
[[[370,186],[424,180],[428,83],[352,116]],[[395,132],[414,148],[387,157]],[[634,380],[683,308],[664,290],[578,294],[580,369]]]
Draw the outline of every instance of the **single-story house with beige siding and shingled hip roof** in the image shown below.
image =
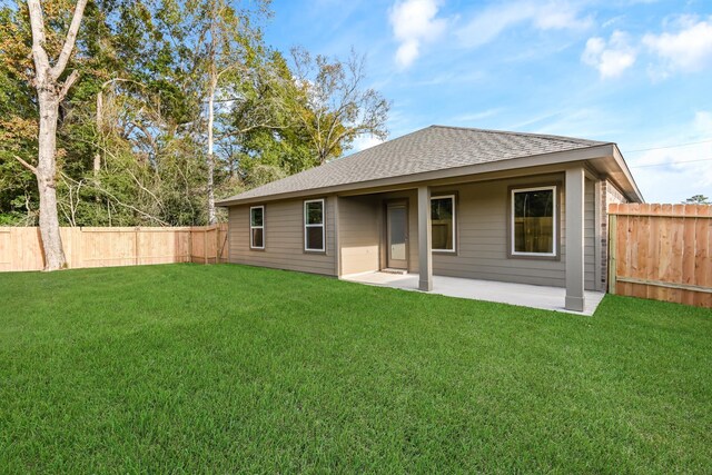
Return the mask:
[[605,290],[606,206],[641,202],[615,144],[432,126],[219,201],[229,260]]

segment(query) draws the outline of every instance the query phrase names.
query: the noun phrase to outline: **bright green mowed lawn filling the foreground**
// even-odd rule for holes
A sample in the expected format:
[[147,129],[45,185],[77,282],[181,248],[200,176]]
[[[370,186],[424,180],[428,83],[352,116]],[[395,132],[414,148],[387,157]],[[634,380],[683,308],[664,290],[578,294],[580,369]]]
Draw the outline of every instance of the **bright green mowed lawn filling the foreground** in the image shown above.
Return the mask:
[[241,266],[0,274],[0,472],[710,473],[712,311]]

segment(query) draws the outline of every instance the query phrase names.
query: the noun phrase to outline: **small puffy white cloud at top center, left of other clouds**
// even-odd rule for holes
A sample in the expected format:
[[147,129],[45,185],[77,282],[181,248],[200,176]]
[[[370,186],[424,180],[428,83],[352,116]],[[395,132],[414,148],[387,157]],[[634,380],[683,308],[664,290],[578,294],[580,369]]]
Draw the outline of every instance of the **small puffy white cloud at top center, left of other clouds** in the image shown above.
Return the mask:
[[393,34],[398,40],[396,63],[411,66],[421,55],[421,46],[433,41],[445,31],[446,20],[437,17],[438,0],[398,1],[390,9]]

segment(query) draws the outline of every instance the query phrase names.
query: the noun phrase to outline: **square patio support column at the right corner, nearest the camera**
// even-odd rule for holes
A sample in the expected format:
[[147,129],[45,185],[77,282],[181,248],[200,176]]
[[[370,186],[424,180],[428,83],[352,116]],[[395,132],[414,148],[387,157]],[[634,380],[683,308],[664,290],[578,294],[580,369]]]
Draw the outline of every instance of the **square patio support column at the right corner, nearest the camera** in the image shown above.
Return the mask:
[[565,308],[574,311],[583,311],[584,304],[584,186],[583,168],[566,170]]

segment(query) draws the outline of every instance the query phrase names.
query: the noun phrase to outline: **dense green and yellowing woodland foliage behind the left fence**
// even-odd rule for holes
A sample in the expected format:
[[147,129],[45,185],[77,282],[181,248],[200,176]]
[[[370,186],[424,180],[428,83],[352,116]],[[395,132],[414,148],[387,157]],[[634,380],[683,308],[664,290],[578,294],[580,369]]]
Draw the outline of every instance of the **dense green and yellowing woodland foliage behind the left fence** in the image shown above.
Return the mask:
[[[42,2],[51,56],[61,47],[72,7],[73,0]],[[296,120],[316,112],[309,111],[294,65],[264,46],[268,7],[266,0],[89,2],[66,72],[78,70],[80,79],[60,106],[58,123],[62,225],[206,222],[211,65],[221,71],[218,198],[323,162],[312,130]],[[30,44],[24,2],[0,6],[0,224],[38,219],[36,178],[18,160],[37,161]],[[329,157],[340,155],[350,137],[330,148]]]

